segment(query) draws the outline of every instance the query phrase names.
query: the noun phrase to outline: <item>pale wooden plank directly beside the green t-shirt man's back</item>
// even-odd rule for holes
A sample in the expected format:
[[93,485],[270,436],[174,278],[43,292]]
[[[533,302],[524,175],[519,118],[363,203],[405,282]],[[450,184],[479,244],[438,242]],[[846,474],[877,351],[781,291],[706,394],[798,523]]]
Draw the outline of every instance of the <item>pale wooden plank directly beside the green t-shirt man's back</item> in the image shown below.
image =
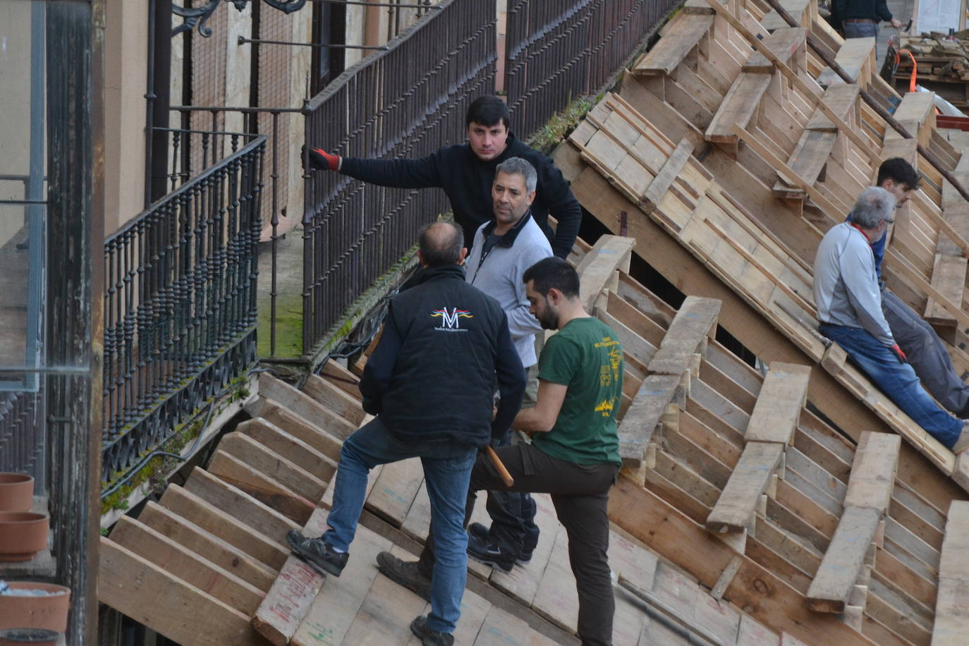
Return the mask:
[[619,457],[624,467],[640,468],[653,431],[671,406],[679,385],[678,375],[649,375],[642,381],[619,423]]

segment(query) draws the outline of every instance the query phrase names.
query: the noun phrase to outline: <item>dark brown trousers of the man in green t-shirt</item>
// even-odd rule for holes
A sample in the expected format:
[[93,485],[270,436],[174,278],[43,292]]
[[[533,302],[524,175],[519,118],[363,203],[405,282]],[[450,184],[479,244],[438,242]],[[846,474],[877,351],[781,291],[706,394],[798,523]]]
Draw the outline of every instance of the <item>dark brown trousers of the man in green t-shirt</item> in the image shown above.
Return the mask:
[[[467,526],[475,507],[475,492],[528,491],[551,494],[559,521],[569,537],[569,563],[578,590],[578,637],[582,644],[612,643],[615,600],[609,568],[609,489],[619,469],[613,464],[582,465],[558,460],[532,445],[495,449],[515,485],[505,486],[491,460],[482,451],[471,471]],[[428,576],[434,567],[434,541],[428,535],[420,568]]]

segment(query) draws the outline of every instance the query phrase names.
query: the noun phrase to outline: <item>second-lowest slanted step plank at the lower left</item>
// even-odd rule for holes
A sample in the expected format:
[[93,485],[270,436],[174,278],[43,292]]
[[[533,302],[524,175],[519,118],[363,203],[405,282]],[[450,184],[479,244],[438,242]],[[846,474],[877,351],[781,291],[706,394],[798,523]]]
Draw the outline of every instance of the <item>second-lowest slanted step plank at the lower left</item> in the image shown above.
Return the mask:
[[263,591],[131,516],[118,519],[110,539],[243,614],[263,600]]

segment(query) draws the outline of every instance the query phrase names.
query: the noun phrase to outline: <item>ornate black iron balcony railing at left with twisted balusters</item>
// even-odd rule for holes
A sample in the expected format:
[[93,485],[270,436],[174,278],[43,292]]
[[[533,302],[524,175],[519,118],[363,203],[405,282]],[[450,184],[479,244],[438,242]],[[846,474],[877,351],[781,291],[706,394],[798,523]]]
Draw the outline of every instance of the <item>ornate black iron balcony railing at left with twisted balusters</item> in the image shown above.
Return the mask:
[[266,137],[170,132],[174,190],[105,241],[105,482],[257,359]]

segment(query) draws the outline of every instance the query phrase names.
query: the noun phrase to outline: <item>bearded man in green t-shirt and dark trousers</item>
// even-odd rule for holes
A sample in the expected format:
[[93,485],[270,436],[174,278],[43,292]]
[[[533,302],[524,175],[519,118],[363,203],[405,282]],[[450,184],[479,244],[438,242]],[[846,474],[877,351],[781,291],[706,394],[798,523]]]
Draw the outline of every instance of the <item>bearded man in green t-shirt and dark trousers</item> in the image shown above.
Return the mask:
[[[612,643],[609,558],[610,486],[621,464],[615,415],[622,397],[622,348],[609,325],[588,315],[578,299],[578,274],[567,261],[547,258],[523,276],[531,313],[550,337],[539,357],[534,408],[516,415],[513,428],[532,434],[531,445],[502,446],[498,456],[515,478],[504,484],[485,453],[471,473],[465,525],[475,492],[546,492],[569,537],[569,562],[578,589],[578,636],[582,644]],[[382,564],[397,583],[421,591],[421,568],[433,564],[428,537],[419,563]],[[391,567],[392,566],[392,567]]]

